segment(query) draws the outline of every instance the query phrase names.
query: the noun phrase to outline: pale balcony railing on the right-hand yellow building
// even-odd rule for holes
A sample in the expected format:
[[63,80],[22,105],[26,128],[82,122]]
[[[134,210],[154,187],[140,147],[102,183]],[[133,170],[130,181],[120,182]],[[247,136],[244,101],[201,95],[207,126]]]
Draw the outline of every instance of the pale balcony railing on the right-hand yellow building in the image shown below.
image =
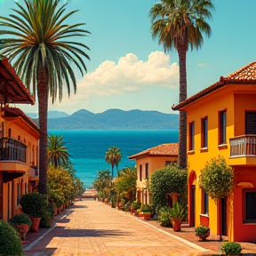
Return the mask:
[[256,156],[256,135],[243,135],[229,140],[230,156]]

